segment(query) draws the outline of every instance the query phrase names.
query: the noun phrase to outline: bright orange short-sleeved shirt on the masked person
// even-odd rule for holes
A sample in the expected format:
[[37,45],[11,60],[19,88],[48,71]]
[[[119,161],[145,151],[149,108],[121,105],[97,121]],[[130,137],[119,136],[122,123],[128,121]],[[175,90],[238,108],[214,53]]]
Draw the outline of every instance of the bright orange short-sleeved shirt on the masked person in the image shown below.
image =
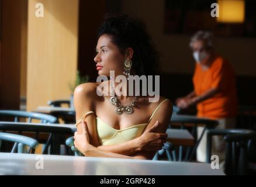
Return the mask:
[[208,70],[202,70],[202,66],[196,64],[193,85],[196,95],[201,95],[210,88],[219,89],[211,98],[198,103],[199,117],[220,119],[236,116],[236,81],[233,68],[228,61],[217,56]]

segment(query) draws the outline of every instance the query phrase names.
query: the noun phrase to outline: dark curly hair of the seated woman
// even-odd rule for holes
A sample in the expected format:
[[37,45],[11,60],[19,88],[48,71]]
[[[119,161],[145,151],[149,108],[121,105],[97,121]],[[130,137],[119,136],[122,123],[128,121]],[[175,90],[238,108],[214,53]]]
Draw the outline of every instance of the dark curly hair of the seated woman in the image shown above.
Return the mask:
[[109,34],[121,53],[133,49],[133,70],[136,75],[155,75],[159,54],[141,20],[127,15],[109,16],[99,29],[98,37]]

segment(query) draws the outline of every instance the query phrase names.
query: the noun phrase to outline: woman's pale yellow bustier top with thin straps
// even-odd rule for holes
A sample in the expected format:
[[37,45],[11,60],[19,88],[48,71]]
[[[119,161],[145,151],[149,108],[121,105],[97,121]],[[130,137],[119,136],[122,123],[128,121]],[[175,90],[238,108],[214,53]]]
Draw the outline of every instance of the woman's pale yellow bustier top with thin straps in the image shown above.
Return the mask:
[[[150,119],[148,120],[147,123],[135,124],[125,129],[120,129],[120,130],[114,129],[113,127],[110,127],[108,124],[103,122],[102,119],[100,119],[99,117],[96,117],[96,129],[97,129],[99,144],[100,145],[119,144],[125,141],[133,140],[134,138],[140,137],[144,129],[146,128],[147,124],[150,122],[150,120],[154,116],[155,112],[157,112],[157,109],[161,106],[163,102],[167,100],[168,99],[165,99],[157,106],[157,108],[154,110],[154,112],[150,116]],[[93,111],[87,112],[82,117],[82,119],[75,124],[75,126],[81,123],[82,120],[84,120],[85,117],[87,117],[87,115],[89,115],[90,113],[94,113],[94,112]]]

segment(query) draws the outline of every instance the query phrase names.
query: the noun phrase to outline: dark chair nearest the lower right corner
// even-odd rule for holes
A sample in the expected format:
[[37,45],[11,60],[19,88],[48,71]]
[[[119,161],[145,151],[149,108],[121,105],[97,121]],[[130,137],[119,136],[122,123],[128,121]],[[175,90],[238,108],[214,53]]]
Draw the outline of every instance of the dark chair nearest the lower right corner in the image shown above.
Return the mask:
[[225,173],[245,175],[248,167],[248,153],[255,131],[246,129],[210,129],[207,131],[206,162],[210,163],[212,136],[224,136],[226,142]]

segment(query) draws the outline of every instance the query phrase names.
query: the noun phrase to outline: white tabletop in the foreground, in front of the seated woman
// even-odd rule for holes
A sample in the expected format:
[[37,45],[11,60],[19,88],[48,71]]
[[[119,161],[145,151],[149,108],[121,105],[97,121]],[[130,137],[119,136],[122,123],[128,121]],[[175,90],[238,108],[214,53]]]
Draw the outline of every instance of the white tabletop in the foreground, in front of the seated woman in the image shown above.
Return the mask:
[[[37,169],[36,169],[37,167]],[[0,153],[1,175],[224,175],[210,164]]]

